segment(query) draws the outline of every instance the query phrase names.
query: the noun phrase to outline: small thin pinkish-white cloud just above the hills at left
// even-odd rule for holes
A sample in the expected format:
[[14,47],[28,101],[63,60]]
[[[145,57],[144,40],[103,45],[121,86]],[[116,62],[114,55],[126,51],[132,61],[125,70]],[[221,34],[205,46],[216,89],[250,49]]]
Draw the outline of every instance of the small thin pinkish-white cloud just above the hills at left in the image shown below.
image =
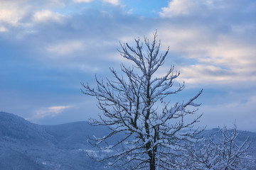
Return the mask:
[[33,119],[40,119],[45,118],[47,116],[55,117],[56,115],[63,112],[65,109],[70,108],[71,106],[51,106],[48,108],[40,108],[37,111],[35,111],[35,115]]

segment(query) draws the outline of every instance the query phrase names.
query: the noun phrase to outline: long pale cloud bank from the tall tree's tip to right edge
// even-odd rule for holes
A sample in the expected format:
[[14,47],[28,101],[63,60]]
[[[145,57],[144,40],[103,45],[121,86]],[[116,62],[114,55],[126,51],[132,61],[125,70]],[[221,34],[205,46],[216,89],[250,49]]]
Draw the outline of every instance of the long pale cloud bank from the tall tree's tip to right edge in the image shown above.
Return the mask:
[[[232,84],[256,81],[255,44],[236,38],[236,35],[218,35],[206,28],[167,27],[159,31],[171,52],[196,60],[181,67],[182,77],[191,84]],[[216,37],[214,38],[213,35]]]

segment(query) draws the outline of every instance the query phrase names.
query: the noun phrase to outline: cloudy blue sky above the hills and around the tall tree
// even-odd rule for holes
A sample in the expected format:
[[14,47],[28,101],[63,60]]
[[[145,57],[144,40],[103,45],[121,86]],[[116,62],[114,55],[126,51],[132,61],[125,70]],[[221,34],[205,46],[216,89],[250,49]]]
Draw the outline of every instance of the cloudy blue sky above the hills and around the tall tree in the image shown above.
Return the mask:
[[198,125],[256,132],[255,0],[0,0],[0,111],[41,125],[97,118],[80,82],[112,77],[127,63],[119,42],[156,30],[170,47],[161,72],[174,64],[186,83],[171,100],[203,89]]

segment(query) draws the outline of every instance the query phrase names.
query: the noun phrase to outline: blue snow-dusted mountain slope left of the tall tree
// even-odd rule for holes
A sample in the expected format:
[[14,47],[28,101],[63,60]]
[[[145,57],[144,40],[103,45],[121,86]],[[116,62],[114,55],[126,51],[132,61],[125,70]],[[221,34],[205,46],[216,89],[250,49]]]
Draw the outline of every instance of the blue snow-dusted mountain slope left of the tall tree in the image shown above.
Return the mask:
[[[67,142],[66,137],[58,137],[54,133],[59,127],[72,124],[77,123],[36,125],[12,113],[0,112],[0,169],[104,169],[101,164],[87,157],[86,152],[78,149],[92,148],[86,140],[81,141],[80,145],[70,147],[75,137],[71,136],[71,140]],[[87,122],[82,124],[89,127]],[[60,131],[68,132],[63,128]],[[76,139],[76,142],[78,140],[80,139]]]

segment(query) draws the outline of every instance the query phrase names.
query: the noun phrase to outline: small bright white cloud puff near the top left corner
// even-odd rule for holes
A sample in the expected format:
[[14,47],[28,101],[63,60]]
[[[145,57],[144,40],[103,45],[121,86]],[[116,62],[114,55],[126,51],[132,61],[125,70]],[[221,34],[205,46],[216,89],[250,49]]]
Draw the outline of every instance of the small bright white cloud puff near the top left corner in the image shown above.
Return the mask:
[[61,22],[61,19],[62,19],[62,16],[59,13],[54,13],[48,10],[36,11],[36,13],[33,15],[33,20],[37,22],[47,22],[47,21]]

